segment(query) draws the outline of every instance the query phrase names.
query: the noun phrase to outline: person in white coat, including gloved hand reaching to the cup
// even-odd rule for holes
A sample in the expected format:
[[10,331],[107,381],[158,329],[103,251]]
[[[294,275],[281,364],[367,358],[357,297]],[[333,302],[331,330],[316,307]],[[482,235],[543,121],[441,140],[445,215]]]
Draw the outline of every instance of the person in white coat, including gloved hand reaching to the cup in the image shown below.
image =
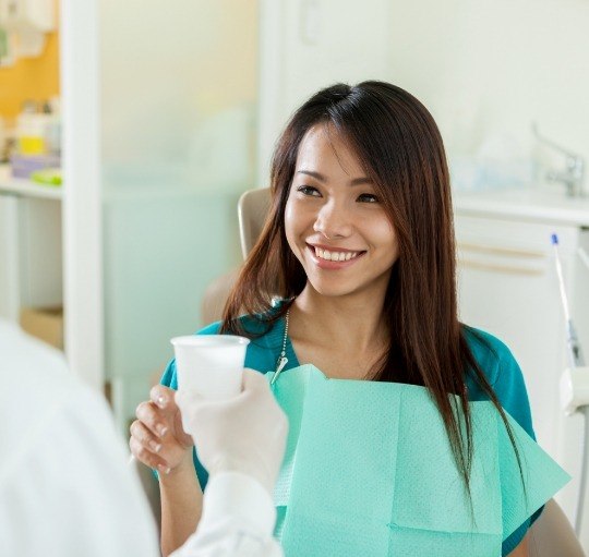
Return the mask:
[[[211,484],[199,530],[175,557],[281,556],[269,493],[286,417],[257,379],[247,372],[243,392],[225,403],[178,397]],[[155,522],[103,397],[68,370],[60,352],[2,319],[0,380],[2,555],[158,556]],[[275,444],[256,445],[268,423]]]

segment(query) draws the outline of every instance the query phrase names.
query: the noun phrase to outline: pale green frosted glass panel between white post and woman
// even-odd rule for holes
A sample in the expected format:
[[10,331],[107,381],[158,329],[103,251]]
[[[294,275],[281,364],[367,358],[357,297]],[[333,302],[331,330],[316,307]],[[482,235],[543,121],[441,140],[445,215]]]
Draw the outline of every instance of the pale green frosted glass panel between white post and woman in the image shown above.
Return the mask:
[[257,2],[100,2],[105,366],[121,429],[241,259]]

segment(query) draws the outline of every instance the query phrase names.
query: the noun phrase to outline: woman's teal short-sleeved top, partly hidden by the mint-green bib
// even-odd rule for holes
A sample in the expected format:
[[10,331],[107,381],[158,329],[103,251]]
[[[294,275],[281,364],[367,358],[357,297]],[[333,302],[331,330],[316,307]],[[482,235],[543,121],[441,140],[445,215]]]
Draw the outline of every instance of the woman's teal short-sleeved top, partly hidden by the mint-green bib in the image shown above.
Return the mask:
[[[252,317],[242,317],[245,328],[249,331],[262,332],[265,325]],[[524,383],[524,375],[509,349],[496,337],[473,327],[462,326],[466,339],[469,343],[472,355],[479,363],[481,370],[486,374],[486,379],[505,411],[536,440],[532,428],[530,404],[528,392]],[[196,335],[218,335],[220,322],[213,323]],[[285,320],[279,319],[273,327],[259,338],[250,341],[245,353],[245,367],[251,367],[261,373],[274,372],[283,348],[285,335]],[[297,354],[287,337],[286,356],[288,363],[285,370],[298,367]],[[161,385],[178,389],[178,378],[176,373],[176,361],[171,360],[161,377]],[[488,400],[488,396],[470,377],[467,377],[468,398],[471,401]],[[208,474],[201,464],[196,451],[194,451],[194,467],[199,476],[201,487],[205,488]],[[503,542],[502,555],[508,555],[521,542],[527,530],[540,516],[542,509],[538,510],[530,520],[519,526],[507,540]]]

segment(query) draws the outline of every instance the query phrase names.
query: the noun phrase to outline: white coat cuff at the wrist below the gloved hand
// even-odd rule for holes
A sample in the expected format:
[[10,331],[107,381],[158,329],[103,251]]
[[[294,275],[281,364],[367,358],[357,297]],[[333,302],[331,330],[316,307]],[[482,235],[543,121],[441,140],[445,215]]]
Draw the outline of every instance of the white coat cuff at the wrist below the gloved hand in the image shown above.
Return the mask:
[[272,536],[274,502],[262,485],[237,473],[214,474],[196,532],[171,557],[283,557]]

